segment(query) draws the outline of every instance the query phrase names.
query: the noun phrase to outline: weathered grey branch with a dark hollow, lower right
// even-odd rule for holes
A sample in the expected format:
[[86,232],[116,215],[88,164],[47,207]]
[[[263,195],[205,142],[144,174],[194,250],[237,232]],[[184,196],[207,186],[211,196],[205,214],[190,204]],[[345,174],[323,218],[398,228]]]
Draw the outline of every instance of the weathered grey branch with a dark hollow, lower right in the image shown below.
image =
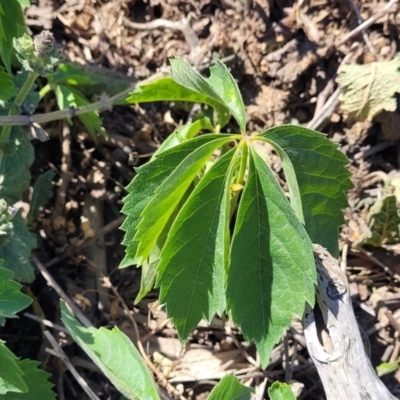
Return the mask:
[[306,308],[304,334],[327,400],[395,400],[365,353],[345,273],[323,247],[314,257],[317,303]]

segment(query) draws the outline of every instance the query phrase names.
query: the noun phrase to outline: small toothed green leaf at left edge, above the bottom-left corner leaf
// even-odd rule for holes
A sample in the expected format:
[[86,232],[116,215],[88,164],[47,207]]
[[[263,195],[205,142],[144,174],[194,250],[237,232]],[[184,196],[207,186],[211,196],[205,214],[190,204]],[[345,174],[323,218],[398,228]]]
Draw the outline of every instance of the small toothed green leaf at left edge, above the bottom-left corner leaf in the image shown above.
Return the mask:
[[2,267],[0,260],[0,317],[17,318],[16,313],[28,307],[32,300],[21,292],[21,285],[11,278],[13,273]]

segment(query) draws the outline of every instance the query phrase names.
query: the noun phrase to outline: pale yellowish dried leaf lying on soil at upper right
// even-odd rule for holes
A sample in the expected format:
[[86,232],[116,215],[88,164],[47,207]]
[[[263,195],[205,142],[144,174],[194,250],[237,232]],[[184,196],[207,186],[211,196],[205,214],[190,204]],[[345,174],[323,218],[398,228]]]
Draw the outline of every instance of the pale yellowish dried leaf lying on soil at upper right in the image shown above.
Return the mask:
[[347,64],[336,78],[342,109],[360,121],[372,121],[382,110],[396,111],[400,92],[400,54],[391,61]]

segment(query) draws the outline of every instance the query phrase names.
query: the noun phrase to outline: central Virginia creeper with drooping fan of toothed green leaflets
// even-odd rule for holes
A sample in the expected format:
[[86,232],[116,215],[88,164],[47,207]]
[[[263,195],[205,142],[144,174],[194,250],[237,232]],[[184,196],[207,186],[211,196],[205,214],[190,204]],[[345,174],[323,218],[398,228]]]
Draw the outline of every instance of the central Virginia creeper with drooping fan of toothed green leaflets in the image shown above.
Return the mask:
[[[178,129],[137,169],[122,210],[121,267],[142,266],[137,300],[159,287],[182,341],[201,319],[227,312],[265,367],[291,318],[314,304],[312,243],[338,254],[348,160],[323,134],[299,126],[247,132],[238,86],[218,60],[209,78],[171,60],[171,78],[160,85],[175,92],[171,99],[215,112]],[[149,91],[141,90],[128,100]],[[231,116],[238,133],[223,131]],[[287,194],[266,145],[281,158]]]

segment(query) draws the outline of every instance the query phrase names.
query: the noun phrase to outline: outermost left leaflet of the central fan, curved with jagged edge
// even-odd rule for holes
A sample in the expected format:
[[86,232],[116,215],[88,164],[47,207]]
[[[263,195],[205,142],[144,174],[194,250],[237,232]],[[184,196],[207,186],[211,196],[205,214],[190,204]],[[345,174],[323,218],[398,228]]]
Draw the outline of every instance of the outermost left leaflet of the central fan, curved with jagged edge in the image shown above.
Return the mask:
[[204,144],[219,138],[221,138],[219,134],[199,136],[161,154],[159,153],[149,163],[136,169],[137,175],[126,188],[129,194],[125,197],[124,207],[122,208],[122,213],[127,215],[121,226],[121,229],[126,232],[122,244],[127,246],[127,249],[120,268],[140,262],[140,259],[136,258],[138,242],[134,240],[134,237],[140,215],[154,197],[156,189],[189,154]]

